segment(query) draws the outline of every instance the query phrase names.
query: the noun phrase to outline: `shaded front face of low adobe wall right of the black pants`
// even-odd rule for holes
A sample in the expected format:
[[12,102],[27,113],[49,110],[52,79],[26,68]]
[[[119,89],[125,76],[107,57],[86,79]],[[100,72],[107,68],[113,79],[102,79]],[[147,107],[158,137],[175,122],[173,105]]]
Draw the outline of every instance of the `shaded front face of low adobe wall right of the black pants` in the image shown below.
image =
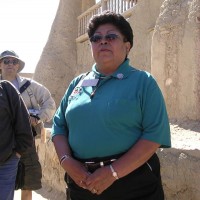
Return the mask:
[[159,149],[166,200],[199,200],[200,151]]

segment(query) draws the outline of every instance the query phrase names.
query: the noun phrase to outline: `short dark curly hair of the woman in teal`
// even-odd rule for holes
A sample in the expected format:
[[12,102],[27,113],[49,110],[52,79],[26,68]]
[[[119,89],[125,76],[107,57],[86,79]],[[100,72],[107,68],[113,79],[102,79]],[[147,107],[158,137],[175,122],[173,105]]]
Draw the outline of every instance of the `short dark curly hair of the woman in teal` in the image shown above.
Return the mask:
[[129,22],[121,15],[112,11],[104,11],[101,14],[94,15],[88,24],[87,33],[89,38],[92,37],[100,25],[113,24],[125,37],[125,41],[130,42],[133,46],[133,30]]

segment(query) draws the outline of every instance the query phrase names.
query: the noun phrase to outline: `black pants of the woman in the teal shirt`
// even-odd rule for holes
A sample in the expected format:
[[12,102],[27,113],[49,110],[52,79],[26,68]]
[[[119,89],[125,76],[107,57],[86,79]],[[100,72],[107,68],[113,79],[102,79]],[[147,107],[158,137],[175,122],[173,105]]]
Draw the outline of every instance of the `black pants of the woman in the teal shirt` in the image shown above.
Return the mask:
[[100,195],[80,188],[68,176],[67,192],[70,194],[70,200],[164,200],[158,156],[154,154],[148,164],[145,163],[127,176],[116,180]]

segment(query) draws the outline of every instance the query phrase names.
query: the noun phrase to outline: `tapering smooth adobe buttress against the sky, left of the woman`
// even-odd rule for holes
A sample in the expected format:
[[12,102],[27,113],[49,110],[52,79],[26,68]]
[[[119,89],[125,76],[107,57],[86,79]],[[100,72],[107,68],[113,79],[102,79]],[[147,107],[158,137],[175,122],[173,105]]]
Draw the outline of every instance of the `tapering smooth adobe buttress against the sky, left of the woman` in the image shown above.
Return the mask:
[[46,46],[37,64],[34,79],[44,84],[58,106],[75,75],[76,37],[82,0],[60,0]]

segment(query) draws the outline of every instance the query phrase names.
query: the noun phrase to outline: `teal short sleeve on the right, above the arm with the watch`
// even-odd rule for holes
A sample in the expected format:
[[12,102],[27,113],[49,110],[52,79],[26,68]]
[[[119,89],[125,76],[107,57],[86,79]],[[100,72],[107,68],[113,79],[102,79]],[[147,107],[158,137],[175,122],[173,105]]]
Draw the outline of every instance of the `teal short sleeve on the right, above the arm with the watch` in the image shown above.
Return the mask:
[[165,101],[152,76],[148,77],[142,99],[142,138],[170,147],[170,126]]

